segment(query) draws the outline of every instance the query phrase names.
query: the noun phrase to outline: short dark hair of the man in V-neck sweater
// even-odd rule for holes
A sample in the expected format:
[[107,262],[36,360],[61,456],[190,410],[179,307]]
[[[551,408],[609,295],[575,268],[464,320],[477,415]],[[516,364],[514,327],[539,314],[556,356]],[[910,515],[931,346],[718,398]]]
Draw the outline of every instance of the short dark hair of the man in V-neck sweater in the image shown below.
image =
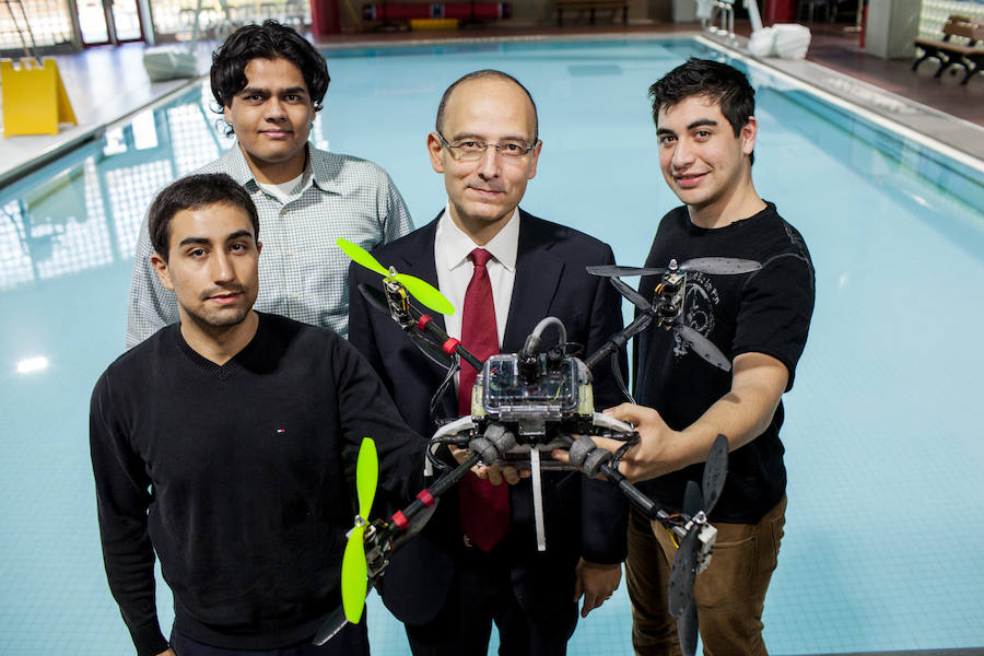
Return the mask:
[[253,223],[253,238],[259,239],[259,215],[246,189],[224,173],[202,173],[171,183],[154,198],[148,212],[148,231],[154,253],[167,261],[171,220],[175,214],[212,204],[231,204],[246,212]]

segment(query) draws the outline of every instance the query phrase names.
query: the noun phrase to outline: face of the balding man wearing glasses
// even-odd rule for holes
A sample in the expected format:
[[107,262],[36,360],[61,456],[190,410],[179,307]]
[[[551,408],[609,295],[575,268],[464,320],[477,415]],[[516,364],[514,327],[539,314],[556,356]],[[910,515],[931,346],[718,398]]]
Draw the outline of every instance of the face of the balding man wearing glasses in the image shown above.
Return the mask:
[[[536,142],[536,115],[526,93],[506,80],[487,78],[459,84],[445,105],[444,138],[449,143]],[[470,234],[505,225],[537,174],[541,144],[522,157],[505,157],[494,147],[473,162],[456,161],[435,133],[427,137],[434,171],[444,174],[452,219]],[[500,225],[500,227],[501,227]]]

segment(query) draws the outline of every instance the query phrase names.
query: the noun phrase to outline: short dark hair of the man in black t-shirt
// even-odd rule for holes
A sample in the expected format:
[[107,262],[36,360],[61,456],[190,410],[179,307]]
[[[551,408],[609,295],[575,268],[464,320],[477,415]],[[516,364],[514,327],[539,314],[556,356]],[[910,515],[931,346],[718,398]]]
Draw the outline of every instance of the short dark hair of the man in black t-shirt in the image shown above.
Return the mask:
[[[735,67],[691,57],[649,86],[653,101],[653,122],[658,124],[659,110],[672,107],[691,96],[705,96],[721,106],[721,113],[731,124],[735,137],[755,114],[755,90],[748,78]],[[754,162],[754,153],[751,155]]]

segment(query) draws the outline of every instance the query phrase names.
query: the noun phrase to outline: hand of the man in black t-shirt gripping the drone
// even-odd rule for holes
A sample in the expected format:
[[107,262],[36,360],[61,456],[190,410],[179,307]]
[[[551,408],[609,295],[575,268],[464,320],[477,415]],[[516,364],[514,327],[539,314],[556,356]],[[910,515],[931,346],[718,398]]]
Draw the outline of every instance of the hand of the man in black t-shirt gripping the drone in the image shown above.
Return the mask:
[[[619,462],[619,471],[631,482],[644,481],[680,469],[681,461],[679,433],[670,430],[656,410],[633,403],[622,403],[609,408],[605,414],[635,425],[639,444],[628,449]],[[591,441],[600,448],[617,452],[624,446],[620,440],[591,436]],[[550,454],[555,460],[570,462],[564,449],[554,449]]]

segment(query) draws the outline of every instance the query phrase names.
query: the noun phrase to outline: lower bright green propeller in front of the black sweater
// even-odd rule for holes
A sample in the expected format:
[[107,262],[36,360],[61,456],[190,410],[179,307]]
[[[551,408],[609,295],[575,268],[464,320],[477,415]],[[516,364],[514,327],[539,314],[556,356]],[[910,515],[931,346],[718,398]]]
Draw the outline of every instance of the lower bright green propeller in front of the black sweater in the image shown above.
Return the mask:
[[379,458],[376,444],[366,437],[359,447],[359,459],[355,461],[355,492],[359,495],[359,515],[355,526],[349,534],[349,543],[342,557],[342,608],[345,619],[358,624],[362,619],[365,595],[368,591],[368,571],[365,562],[365,527],[368,526],[368,514],[373,508],[376,495],[376,482],[379,479]]

